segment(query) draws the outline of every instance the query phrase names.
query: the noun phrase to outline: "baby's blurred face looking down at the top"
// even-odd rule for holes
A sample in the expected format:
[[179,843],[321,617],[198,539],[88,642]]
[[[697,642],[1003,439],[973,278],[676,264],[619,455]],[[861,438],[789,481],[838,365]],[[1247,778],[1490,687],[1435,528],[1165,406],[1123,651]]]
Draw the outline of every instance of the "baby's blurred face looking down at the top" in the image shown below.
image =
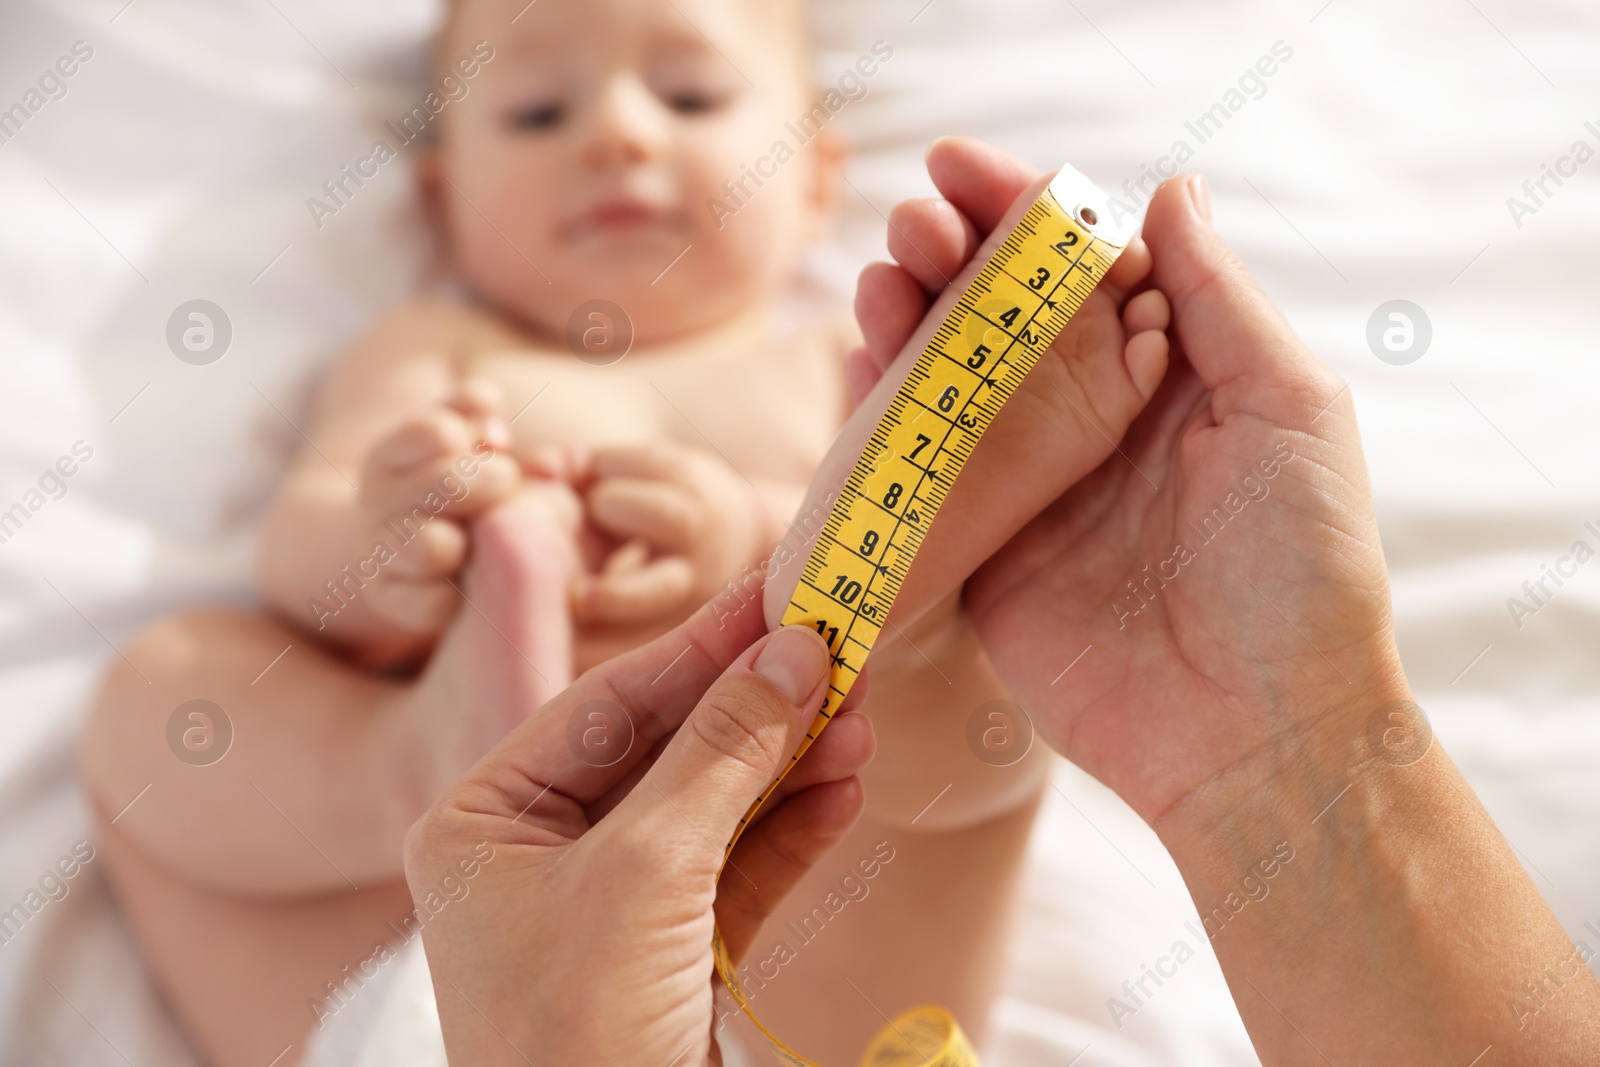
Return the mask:
[[[810,104],[797,3],[458,3],[440,59],[478,40],[494,58],[442,117],[435,189],[478,293],[552,336],[613,301],[648,344],[752,307],[794,269],[834,160],[784,125]],[[730,198],[778,141],[798,154]]]

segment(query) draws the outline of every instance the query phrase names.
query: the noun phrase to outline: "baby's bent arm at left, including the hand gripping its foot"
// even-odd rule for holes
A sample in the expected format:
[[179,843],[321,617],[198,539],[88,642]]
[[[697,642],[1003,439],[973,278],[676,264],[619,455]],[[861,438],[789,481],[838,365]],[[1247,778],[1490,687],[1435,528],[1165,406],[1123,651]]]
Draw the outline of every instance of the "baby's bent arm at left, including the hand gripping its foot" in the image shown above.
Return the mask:
[[461,376],[464,314],[411,307],[376,325],[323,387],[267,512],[259,582],[299,629],[357,659],[414,659],[456,606],[459,522],[518,483],[494,390]]

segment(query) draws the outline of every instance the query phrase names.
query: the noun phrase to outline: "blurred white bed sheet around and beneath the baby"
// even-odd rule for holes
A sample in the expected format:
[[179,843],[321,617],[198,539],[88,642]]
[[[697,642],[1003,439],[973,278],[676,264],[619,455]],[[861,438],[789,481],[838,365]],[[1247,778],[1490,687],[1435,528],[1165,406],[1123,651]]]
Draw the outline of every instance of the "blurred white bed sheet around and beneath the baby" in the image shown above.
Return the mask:
[[[824,85],[874,42],[894,50],[838,118],[845,214],[810,270],[842,301],[883,254],[888,210],[931,192],[934,136],[1070,162],[1130,210],[1182,142],[1219,229],[1350,382],[1418,699],[1568,933],[1600,949],[1600,561],[1563,563],[1538,600],[1523,587],[1578,541],[1600,550],[1600,8],[813,11]],[[438,14],[0,8],[0,109],[22,107],[0,110],[0,515],[26,509],[0,518],[0,901],[86,832],[70,737],[99,670],[178,606],[250,603],[254,520],[318,373],[429,277],[408,157],[320,227],[306,202],[418,99]],[[190,301],[227,328],[211,362],[170,344]],[[59,499],[54,482],[29,496],[62,456]],[[987,1062],[1256,1062],[1154,835],[1074,768],[1054,784]],[[0,945],[0,1062],[189,1062],[86,873]],[[1178,941],[1198,955],[1114,1017]]]

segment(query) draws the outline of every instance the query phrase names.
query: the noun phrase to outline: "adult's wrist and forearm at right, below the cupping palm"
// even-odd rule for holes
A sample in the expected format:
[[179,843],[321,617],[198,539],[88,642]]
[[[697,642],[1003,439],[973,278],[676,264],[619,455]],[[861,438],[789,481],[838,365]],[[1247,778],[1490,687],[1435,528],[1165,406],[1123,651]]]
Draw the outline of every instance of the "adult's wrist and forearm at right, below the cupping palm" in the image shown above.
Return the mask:
[[1586,1062],[1600,985],[1560,971],[1573,942],[1398,672],[1306,721],[1155,825],[1262,1061]]

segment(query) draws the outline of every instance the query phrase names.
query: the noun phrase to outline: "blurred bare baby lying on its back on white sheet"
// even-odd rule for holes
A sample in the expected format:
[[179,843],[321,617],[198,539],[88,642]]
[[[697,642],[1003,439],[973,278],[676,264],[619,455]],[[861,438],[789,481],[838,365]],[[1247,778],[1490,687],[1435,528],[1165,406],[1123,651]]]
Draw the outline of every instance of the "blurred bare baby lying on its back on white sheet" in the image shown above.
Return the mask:
[[[459,296],[333,370],[266,518],[267,611],[141,635],[83,742],[122,910],[216,1067],[296,1062],[362,995],[414,934],[410,824],[758,565],[850,408],[851,336],[790,299],[843,160],[800,3],[461,0],[437,59],[474,70],[421,165]],[[872,859],[872,902],[757,992],[810,1054],[853,1059],[917,1000],[981,1035],[1045,768],[973,758],[997,697],[958,595],[875,653],[883,757],[816,881]]]

